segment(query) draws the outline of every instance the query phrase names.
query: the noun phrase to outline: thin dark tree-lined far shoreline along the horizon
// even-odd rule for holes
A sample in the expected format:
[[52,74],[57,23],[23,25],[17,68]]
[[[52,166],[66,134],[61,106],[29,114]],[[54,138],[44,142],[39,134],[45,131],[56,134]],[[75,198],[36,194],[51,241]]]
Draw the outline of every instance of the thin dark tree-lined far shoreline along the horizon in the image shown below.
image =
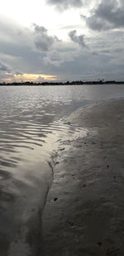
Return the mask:
[[42,82],[42,83],[33,83],[33,82],[13,82],[13,83],[0,83],[0,86],[44,86],[44,85],[124,85],[124,81],[72,81],[72,82]]

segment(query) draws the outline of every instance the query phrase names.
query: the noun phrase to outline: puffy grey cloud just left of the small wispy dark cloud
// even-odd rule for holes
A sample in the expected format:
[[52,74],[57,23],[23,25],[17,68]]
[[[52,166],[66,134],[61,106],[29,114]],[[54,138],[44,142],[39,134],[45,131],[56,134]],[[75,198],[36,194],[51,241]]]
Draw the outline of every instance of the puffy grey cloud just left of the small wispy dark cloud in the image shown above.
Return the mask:
[[57,36],[49,36],[45,27],[33,24],[35,30],[35,45],[40,51],[49,51],[56,41],[59,41]]

